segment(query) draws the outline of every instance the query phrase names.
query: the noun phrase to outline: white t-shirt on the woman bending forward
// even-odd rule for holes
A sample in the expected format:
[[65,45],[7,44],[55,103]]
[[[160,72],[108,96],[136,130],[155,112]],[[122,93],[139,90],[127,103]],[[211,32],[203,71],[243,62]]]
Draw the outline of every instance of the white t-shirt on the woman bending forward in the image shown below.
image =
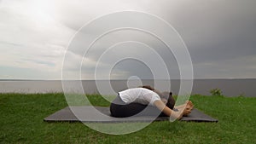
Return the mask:
[[119,92],[119,96],[126,104],[131,102],[154,106],[154,101],[160,100],[160,96],[154,91],[144,88],[126,89]]

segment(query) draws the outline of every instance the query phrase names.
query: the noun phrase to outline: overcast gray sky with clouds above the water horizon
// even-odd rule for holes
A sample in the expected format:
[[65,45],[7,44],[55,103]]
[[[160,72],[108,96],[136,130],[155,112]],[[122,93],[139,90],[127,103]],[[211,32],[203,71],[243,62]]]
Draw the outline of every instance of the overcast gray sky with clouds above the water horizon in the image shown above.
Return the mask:
[[[79,45],[89,43],[87,37],[107,23],[83,26],[121,11],[152,14],[169,23],[189,51],[194,78],[256,78],[255,5],[255,0],[0,0],[0,79],[61,79],[63,70],[73,79],[78,78],[75,66],[81,67],[83,79],[94,79],[96,72],[100,79],[161,78],[164,70],[154,72],[159,61],[153,52],[166,62],[170,78],[179,78],[176,55],[145,32],[109,33],[84,55]],[[108,25],[126,19],[108,20]],[[158,25],[138,20],[138,26],[143,22],[145,28]],[[78,32],[84,37],[76,45]],[[125,55],[143,60],[121,60]],[[114,58],[119,62],[113,63]]]

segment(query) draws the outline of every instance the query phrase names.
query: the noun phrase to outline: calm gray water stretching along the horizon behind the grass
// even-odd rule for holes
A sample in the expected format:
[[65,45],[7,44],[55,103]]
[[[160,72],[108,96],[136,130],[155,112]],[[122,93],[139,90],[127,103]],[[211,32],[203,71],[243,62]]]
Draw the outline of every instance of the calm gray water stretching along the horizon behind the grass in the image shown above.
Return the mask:
[[[171,85],[168,85],[170,81],[158,80],[157,84],[160,84],[157,88],[160,90],[166,90],[171,87],[174,94],[178,94],[180,81],[178,79],[171,80]],[[86,94],[100,93],[102,95],[114,95],[122,89],[137,87],[138,85],[152,85],[156,84],[154,80],[83,80],[80,81],[64,81],[64,84],[68,84],[68,89],[65,92],[79,92],[80,87],[84,89]],[[105,85],[111,85],[110,88]],[[102,90],[103,89],[103,90]],[[238,96],[244,95],[249,97],[256,97],[256,79],[195,79],[192,89],[193,94],[210,95],[210,89],[221,89],[224,95]],[[61,80],[1,80],[0,81],[0,93],[50,93],[50,92],[63,92]]]

